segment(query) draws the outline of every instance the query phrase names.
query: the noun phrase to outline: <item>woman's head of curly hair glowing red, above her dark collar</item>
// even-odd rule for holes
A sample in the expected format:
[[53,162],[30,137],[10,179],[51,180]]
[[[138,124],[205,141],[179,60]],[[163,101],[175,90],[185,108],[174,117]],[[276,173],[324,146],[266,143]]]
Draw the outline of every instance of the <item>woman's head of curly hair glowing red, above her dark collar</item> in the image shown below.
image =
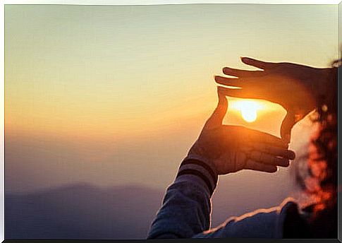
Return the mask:
[[[339,65],[340,61],[334,62]],[[318,130],[312,136],[309,150],[308,167],[313,184],[307,187],[317,199],[315,212],[331,208],[336,204],[337,193],[337,68],[334,67],[329,77],[331,93],[322,97],[317,109]],[[310,184],[309,182],[309,184]]]

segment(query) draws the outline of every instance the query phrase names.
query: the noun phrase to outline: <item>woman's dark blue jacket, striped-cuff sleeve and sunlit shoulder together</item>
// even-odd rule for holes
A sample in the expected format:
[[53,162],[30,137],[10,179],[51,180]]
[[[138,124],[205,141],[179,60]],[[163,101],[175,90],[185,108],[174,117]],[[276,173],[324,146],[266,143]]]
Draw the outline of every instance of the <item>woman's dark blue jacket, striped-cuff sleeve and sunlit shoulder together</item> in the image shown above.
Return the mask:
[[288,212],[298,213],[298,203],[286,198],[280,206],[228,218],[211,228],[211,197],[218,176],[201,158],[185,158],[174,182],[166,189],[161,208],[147,239],[161,238],[283,238]]

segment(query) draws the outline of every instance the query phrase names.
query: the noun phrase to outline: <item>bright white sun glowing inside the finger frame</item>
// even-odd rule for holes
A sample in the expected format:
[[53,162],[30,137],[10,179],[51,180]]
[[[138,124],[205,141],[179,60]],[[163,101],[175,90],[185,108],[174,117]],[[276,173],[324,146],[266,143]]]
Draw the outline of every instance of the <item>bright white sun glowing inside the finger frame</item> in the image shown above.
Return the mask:
[[257,111],[262,109],[259,102],[252,100],[235,100],[231,102],[230,107],[240,111],[241,117],[247,122],[253,122],[257,119]]

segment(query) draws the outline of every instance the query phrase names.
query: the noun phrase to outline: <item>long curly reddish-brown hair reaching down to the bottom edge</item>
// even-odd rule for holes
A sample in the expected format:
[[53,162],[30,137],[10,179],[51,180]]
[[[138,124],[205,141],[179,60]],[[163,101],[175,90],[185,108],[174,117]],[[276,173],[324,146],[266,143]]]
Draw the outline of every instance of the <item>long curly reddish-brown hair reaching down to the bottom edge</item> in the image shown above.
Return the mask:
[[314,198],[310,206],[312,216],[309,219],[314,237],[337,237],[337,69],[341,59],[334,61],[329,80],[331,93],[318,101],[315,117],[318,124],[312,136],[307,155],[307,176],[300,170],[296,179],[306,194]]

